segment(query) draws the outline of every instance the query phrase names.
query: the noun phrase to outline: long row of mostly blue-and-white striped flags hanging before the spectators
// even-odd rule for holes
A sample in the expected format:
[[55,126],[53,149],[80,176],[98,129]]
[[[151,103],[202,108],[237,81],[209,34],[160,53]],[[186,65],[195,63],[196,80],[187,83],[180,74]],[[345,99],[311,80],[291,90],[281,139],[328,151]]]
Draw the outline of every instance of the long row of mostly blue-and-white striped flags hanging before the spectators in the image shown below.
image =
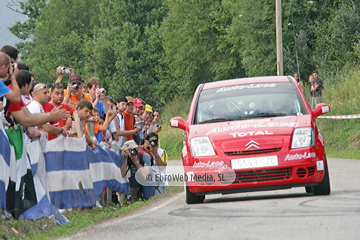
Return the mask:
[[59,209],[93,207],[106,187],[129,194],[122,154],[91,150],[85,137],[24,144],[21,129],[5,132],[0,125],[0,206],[15,219],[54,215],[63,224]]

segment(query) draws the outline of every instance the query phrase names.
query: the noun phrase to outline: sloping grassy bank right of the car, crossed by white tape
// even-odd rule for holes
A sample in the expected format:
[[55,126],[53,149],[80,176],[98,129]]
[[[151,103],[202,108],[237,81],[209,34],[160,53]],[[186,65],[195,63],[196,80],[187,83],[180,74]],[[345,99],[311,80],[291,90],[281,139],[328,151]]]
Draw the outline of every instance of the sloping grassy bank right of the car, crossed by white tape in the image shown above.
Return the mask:
[[[339,81],[326,86],[323,102],[330,105],[330,112],[325,116],[359,114],[359,73],[353,70],[340,74]],[[318,119],[317,122],[328,157],[360,159],[360,119]]]

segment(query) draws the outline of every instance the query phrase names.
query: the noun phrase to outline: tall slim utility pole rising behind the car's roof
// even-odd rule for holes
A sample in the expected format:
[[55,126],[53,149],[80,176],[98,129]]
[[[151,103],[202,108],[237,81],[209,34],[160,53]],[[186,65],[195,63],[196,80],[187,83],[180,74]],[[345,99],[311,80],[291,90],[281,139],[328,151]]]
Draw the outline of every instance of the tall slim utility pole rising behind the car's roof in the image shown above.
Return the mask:
[[276,0],[276,66],[277,75],[283,76],[281,0]]

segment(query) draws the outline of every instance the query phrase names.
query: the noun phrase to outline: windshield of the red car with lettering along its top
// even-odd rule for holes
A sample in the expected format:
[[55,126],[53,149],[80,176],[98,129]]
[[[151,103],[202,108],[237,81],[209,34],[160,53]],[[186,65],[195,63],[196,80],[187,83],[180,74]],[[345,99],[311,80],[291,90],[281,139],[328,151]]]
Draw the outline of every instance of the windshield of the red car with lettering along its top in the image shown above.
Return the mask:
[[194,124],[303,114],[304,103],[292,83],[243,84],[203,90]]

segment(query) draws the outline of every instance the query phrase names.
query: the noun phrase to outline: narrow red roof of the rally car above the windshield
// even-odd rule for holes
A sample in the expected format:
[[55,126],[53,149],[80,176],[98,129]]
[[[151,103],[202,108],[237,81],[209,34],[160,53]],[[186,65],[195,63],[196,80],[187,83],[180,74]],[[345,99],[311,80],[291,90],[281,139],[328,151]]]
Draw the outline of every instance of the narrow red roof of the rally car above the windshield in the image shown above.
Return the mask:
[[230,80],[223,80],[217,82],[205,83],[203,90],[227,87],[238,84],[256,84],[256,83],[274,83],[274,82],[290,82],[290,76],[266,76],[266,77],[250,77],[250,78],[236,78]]

